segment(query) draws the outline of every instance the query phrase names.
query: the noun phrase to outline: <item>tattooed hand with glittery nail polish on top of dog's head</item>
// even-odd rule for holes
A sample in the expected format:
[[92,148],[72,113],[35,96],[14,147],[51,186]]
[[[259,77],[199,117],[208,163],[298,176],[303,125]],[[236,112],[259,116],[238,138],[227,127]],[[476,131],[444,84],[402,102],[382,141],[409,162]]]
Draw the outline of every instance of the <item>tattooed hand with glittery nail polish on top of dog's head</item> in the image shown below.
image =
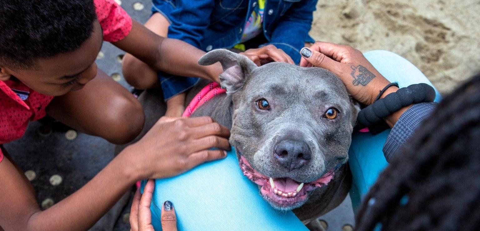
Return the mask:
[[[348,92],[362,104],[372,104],[379,92],[390,83],[377,69],[351,46],[315,42],[310,48],[302,48],[301,67],[320,67],[336,74],[347,87]],[[396,92],[390,87],[383,96]]]

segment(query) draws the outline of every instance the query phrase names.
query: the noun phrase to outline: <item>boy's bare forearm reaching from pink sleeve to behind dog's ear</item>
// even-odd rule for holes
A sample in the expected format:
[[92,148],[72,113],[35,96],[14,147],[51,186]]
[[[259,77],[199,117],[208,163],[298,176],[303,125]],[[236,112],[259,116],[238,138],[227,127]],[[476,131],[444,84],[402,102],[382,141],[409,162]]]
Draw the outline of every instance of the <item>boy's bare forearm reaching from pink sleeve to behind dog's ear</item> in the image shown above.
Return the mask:
[[113,44],[151,67],[174,75],[218,81],[223,71],[219,63],[198,65],[204,51],[177,39],[158,36],[134,20],[130,34]]

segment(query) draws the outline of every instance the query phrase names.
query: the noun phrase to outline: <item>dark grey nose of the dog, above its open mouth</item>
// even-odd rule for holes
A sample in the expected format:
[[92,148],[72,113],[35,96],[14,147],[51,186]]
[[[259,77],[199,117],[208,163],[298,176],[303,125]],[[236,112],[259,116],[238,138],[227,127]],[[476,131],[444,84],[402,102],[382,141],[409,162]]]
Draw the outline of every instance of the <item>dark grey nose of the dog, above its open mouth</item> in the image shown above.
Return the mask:
[[280,165],[286,167],[288,170],[293,170],[307,163],[312,157],[312,154],[305,142],[283,139],[276,143],[274,156]]

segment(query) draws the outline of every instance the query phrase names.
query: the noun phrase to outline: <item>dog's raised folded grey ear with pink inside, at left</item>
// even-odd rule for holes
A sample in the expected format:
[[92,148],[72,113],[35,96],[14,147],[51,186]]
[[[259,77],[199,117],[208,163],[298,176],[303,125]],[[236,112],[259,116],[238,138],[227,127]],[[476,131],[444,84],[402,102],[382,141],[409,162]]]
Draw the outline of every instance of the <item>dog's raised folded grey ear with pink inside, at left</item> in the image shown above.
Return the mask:
[[246,77],[252,73],[257,65],[244,55],[226,49],[216,49],[206,53],[198,60],[198,64],[207,66],[216,62],[222,64],[223,73],[220,74],[220,85],[231,94],[239,90]]

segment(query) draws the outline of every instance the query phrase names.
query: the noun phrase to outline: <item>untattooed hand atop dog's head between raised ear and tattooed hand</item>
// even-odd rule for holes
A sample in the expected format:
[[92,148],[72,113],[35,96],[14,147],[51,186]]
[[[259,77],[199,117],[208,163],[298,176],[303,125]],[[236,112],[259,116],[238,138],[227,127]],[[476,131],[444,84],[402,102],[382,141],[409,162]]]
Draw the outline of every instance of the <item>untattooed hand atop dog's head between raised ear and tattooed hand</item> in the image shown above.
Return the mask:
[[259,67],[273,61],[295,64],[287,53],[271,44],[260,48],[248,49],[239,54],[247,56]]

